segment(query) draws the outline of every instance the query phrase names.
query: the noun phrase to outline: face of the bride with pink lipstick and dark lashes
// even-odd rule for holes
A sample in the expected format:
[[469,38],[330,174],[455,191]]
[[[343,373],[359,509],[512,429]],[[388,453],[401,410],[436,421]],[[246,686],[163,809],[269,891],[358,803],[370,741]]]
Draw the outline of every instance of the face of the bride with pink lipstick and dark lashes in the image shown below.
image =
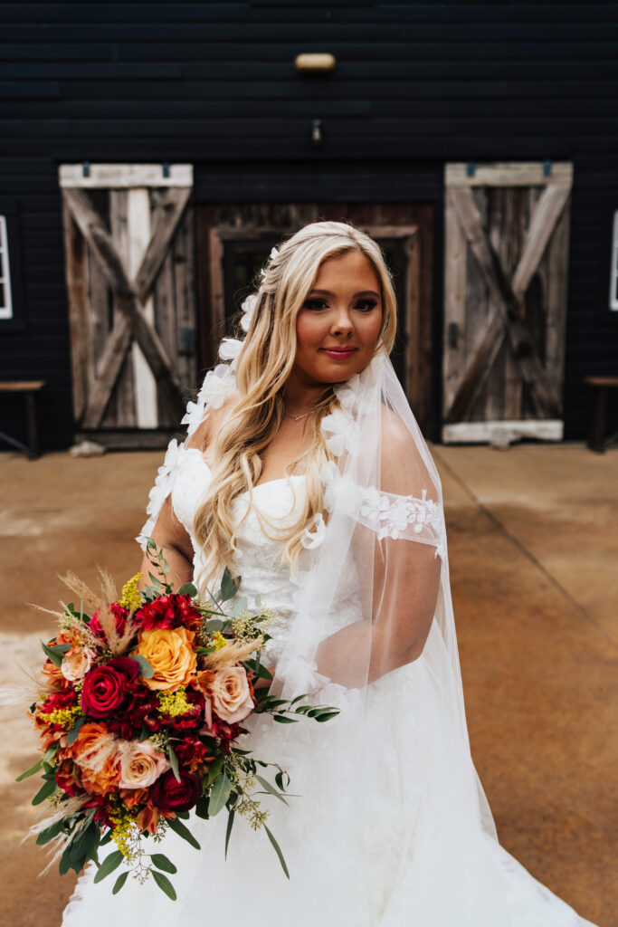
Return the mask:
[[372,360],[382,313],[380,281],[361,251],[324,260],[296,319],[296,381],[309,387],[359,374]]

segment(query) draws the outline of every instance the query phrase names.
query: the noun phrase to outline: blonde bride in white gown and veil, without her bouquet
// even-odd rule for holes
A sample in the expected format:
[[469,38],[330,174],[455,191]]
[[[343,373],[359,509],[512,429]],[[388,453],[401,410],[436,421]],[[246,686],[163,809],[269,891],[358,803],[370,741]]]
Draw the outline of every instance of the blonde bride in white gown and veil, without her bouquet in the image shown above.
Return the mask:
[[[388,354],[397,309],[380,248],[315,222],[273,249],[150,494],[141,539],[178,584],[278,616],[271,692],[336,705],[325,724],[252,716],[240,744],[290,774],[288,806],[260,796],[261,829],[192,819],[173,832],[178,900],[86,870],[65,910],[88,922],[271,927],[588,924],[500,844],[464,716],[435,464]],[[145,565],[147,572],[147,565]],[[268,683],[267,683],[268,684]]]

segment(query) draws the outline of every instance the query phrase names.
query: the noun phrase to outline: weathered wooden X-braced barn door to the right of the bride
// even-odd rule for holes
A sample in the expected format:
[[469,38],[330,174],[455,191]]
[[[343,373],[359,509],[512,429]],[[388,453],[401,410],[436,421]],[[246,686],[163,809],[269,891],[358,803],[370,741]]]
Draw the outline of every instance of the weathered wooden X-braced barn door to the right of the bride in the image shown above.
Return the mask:
[[573,166],[446,166],[442,439],[561,440]]

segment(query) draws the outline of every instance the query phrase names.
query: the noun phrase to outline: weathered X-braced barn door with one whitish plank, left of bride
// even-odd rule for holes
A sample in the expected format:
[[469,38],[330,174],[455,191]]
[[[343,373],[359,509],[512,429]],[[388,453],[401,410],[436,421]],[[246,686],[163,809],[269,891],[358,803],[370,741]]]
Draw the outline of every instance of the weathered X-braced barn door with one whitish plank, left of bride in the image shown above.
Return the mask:
[[195,235],[185,164],[65,164],[76,438],[160,447],[196,387]]

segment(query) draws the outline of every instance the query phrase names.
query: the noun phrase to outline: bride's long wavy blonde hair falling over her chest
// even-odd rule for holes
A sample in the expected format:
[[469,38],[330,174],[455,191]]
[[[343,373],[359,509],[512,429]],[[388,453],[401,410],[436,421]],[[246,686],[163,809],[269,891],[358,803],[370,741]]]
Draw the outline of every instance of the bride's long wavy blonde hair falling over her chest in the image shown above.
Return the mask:
[[[259,454],[271,443],[284,417],[284,387],[296,355],[296,318],[309,297],[324,260],[347,251],[360,251],[372,263],[382,295],[382,327],[374,353],[393,347],[397,302],[390,272],[381,249],[369,235],[347,222],[311,222],[280,246],[266,266],[243,348],[237,360],[235,399],[229,415],[214,438],[212,477],[195,513],[195,540],[204,552],[205,566],[198,577],[202,590],[224,566],[233,572],[237,527],[232,502],[252,489],[259,479]],[[289,475],[302,464],[306,492],[299,518],[279,534],[285,540],[283,556],[296,568],[301,539],[315,516],[322,512],[322,465],[332,459],[322,436],[322,418],[339,407],[333,387],[324,387],[322,400],[309,418],[309,449],[285,467]],[[248,511],[248,509],[247,509]]]

